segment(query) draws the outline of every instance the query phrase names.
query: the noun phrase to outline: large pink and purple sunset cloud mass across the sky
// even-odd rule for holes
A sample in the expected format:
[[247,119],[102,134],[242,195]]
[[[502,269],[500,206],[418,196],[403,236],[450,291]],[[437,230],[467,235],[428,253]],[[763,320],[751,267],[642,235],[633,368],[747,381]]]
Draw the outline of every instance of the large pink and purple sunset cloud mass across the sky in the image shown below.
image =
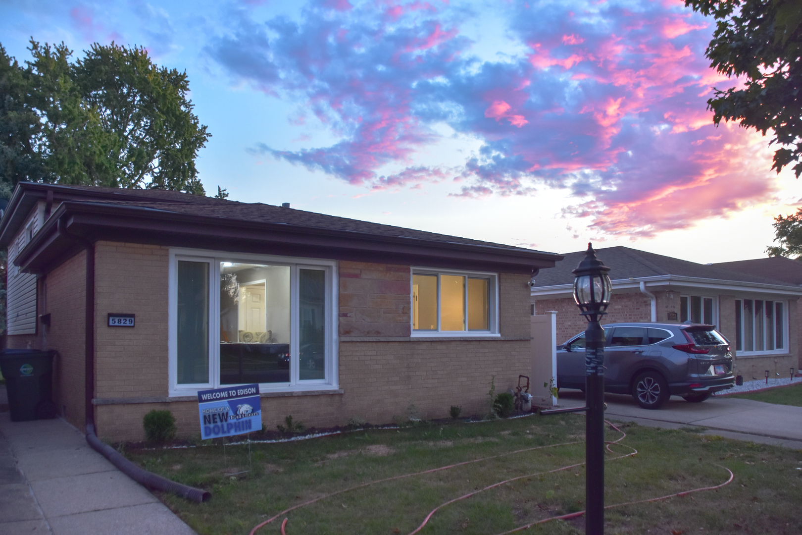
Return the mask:
[[[763,160],[747,133],[711,125],[711,86],[735,81],[704,57],[709,21],[682,2],[567,3],[499,8],[528,47],[521,59],[473,57],[448,6],[391,1],[347,14],[309,8],[301,22],[268,22],[277,37],[254,25],[221,38],[213,54],[339,137],[328,147],[255,152],[368,191],[441,180],[459,181],[464,197],[569,188],[580,201],[566,213],[634,235],[695,225],[694,211],[716,217],[771,194],[770,165],[755,163]],[[435,124],[480,140],[480,149],[448,168],[416,164],[439,139]]]

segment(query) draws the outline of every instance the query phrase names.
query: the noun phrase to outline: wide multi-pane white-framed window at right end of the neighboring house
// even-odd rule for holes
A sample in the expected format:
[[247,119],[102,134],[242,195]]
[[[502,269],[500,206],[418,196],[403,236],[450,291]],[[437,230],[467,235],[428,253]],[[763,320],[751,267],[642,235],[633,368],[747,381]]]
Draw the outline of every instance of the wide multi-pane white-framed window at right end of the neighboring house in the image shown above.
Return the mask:
[[785,353],[786,307],[783,301],[735,299],[735,351]]

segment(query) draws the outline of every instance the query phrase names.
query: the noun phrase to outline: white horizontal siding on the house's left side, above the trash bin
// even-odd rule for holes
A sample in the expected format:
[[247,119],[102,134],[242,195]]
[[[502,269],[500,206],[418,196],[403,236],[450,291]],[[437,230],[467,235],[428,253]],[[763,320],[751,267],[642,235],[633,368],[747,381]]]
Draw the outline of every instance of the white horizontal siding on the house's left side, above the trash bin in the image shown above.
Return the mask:
[[41,210],[34,209],[8,248],[6,326],[8,334],[36,334],[36,275],[22,273],[14,259],[41,226]]

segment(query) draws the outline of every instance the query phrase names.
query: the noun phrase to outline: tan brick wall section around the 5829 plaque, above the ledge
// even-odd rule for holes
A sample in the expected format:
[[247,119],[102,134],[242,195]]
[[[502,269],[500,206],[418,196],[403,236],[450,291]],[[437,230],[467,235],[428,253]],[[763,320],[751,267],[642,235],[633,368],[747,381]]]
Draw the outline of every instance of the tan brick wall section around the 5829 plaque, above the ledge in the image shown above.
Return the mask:
[[[95,397],[168,395],[168,269],[166,247],[95,244]],[[107,326],[109,313],[136,326]]]

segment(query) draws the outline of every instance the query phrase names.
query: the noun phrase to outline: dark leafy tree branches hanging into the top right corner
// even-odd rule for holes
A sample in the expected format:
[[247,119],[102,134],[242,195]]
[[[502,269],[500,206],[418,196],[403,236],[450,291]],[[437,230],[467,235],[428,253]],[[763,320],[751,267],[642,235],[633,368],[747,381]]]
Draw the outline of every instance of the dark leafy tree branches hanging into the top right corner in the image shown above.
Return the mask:
[[796,162],[802,174],[802,2],[800,0],[685,0],[716,19],[705,55],[711,67],[743,77],[742,88],[715,90],[707,101],[715,124],[739,121],[763,135],[771,130],[772,169]]

